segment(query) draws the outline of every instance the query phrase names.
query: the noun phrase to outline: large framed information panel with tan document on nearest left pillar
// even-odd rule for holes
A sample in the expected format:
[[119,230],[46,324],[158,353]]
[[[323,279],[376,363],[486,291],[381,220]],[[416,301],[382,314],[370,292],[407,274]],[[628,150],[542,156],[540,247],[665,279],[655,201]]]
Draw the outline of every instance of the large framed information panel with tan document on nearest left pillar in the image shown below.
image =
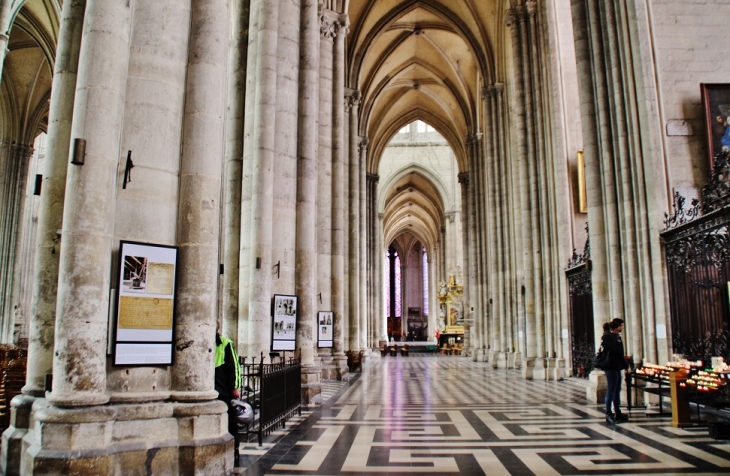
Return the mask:
[[122,241],[114,365],[172,364],[177,248]]

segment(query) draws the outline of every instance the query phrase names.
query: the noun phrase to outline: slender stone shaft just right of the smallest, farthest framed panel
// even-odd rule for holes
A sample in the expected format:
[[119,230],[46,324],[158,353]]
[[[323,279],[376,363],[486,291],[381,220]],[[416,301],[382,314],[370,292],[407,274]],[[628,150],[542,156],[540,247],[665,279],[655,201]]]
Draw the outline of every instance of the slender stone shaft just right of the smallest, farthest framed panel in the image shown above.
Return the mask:
[[[343,352],[342,334],[345,315],[345,36],[347,17],[333,22],[332,61],[332,311],[334,312],[335,352]],[[349,168],[348,168],[349,171]],[[352,191],[350,191],[352,193]]]

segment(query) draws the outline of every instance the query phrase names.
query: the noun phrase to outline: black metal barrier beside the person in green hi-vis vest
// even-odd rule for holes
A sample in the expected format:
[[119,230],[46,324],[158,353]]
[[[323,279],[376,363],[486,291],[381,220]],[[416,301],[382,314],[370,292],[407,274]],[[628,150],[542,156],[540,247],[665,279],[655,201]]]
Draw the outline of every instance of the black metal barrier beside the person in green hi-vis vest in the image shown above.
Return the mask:
[[[302,366],[299,358],[280,357],[270,353],[271,363],[265,363],[263,352],[259,363],[256,357],[246,362],[241,357],[243,389],[241,397],[251,404],[255,418],[246,428],[246,441],[251,434],[257,434],[259,446],[264,436],[276,428],[283,427],[296,412],[302,414]],[[278,360],[275,362],[275,360]]]

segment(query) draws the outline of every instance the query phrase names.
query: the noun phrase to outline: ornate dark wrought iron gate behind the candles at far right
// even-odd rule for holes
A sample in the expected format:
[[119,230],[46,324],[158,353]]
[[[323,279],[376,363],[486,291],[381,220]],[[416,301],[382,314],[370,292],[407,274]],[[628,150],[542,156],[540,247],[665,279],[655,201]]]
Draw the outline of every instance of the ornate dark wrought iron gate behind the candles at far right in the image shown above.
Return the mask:
[[730,351],[730,166],[715,157],[702,204],[674,195],[661,233],[667,264],[672,349],[691,359],[728,359]]

